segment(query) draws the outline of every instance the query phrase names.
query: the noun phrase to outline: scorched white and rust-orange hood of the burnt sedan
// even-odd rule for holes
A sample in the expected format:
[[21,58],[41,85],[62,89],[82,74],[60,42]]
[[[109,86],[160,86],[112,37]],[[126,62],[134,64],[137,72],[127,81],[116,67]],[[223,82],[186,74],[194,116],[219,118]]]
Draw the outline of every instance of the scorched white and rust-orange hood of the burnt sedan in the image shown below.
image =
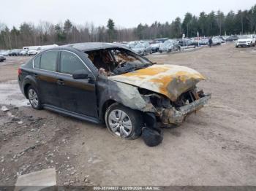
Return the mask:
[[109,79],[161,93],[171,101],[176,101],[179,95],[195,87],[197,82],[205,77],[185,66],[154,64],[146,69],[112,76]]

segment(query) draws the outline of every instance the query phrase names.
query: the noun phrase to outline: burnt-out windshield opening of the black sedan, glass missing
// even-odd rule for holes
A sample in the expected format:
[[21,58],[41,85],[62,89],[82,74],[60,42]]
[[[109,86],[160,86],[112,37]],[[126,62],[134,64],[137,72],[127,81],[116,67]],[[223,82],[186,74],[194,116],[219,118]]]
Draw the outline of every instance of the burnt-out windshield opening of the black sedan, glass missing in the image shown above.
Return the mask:
[[99,70],[99,74],[104,74],[105,76],[124,74],[154,64],[148,61],[147,58],[123,48],[93,50],[86,52],[86,54]]

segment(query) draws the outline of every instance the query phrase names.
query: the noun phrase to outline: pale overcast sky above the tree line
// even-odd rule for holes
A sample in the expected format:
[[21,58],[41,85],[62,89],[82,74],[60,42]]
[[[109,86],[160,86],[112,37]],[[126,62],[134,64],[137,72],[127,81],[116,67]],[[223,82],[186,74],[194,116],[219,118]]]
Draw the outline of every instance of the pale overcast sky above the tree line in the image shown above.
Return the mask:
[[112,18],[116,26],[135,27],[139,23],[151,24],[155,20],[171,22],[184,17],[186,12],[229,12],[233,9],[249,9],[255,0],[12,0],[0,2],[0,23],[19,26],[20,23],[64,22],[67,18],[75,24],[93,22],[95,26],[106,26]]

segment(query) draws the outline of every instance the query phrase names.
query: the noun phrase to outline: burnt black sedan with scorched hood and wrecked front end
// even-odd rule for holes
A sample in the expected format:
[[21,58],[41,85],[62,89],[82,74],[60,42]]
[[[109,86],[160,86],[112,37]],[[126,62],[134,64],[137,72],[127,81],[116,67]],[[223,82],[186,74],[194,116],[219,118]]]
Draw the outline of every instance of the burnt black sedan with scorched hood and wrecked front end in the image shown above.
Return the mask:
[[67,44],[39,52],[18,69],[34,109],[105,122],[113,135],[136,139],[142,128],[180,125],[211,94],[185,66],[157,64],[121,44]]

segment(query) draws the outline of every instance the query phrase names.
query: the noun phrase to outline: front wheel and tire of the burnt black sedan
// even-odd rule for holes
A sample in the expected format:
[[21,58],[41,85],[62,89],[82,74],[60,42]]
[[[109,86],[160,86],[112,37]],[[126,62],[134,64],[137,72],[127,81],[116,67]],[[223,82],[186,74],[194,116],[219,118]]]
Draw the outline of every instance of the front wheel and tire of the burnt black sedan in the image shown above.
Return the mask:
[[141,135],[143,117],[140,112],[116,103],[105,112],[105,123],[114,136],[134,140]]

